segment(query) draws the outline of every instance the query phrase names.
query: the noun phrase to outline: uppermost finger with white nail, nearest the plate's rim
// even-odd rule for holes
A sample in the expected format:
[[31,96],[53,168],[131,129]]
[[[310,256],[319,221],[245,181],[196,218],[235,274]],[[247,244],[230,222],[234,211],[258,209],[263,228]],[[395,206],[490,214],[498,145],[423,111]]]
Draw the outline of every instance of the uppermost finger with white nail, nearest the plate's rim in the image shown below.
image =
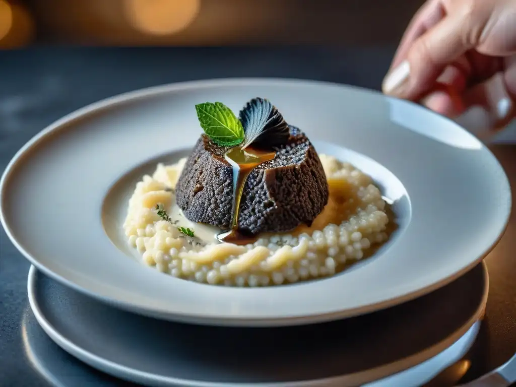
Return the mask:
[[417,101],[434,86],[444,69],[477,44],[490,12],[456,10],[417,38],[405,60],[384,79],[385,94]]

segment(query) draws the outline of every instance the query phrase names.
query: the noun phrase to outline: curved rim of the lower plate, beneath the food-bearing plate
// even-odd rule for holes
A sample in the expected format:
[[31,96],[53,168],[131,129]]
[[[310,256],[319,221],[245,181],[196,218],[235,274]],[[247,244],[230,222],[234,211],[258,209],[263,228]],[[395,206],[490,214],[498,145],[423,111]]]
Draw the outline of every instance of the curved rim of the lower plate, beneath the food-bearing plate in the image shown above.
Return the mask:
[[[462,336],[464,336],[474,325],[476,322],[479,322],[483,318],[483,314],[485,313],[486,304],[489,296],[489,270],[485,261],[482,260],[480,263],[482,265],[482,273],[483,273],[483,293],[478,308],[476,309],[474,315],[472,315],[465,324],[453,332],[450,336],[446,337],[445,340],[434,344],[433,346],[426,348],[425,350],[414,354],[413,356],[409,356],[404,359],[397,360],[390,364],[384,364],[376,368],[371,368],[368,370],[363,370],[353,374],[333,376],[329,378],[322,379],[312,379],[312,380],[304,380],[304,381],[296,381],[296,382],[262,382],[262,383],[247,383],[244,386],[248,387],[303,387],[307,385],[334,385],[332,383],[352,383],[353,385],[362,385],[364,383],[369,383],[373,381],[377,381],[379,379],[395,375],[397,373],[408,370],[418,364],[423,363],[426,360],[430,360],[433,357],[437,356],[439,353],[443,352],[447,348],[454,345],[457,340],[459,340]],[[39,304],[37,302],[36,297],[36,277],[38,274],[38,268],[34,265],[30,265],[28,276],[27,276],[27,297],[29,301],[29,305],[31,310],[34,313],[38,324],[43,329],[43,331],[52,339],[54,343],[56,343],[61,349],[71,354],[71,356],[79,359],[80,361],[92,366],[93,368],[99,369],[102,372],[110,374],[112,376],[118,377],[123,380],[128,380],[137,383],[156,383],[154,385],[162,385],[162,383],[167,383],[164,385],[181,385],[185,387],[237,387],[242,386],[241,383],[234,382],[204,382],[204,381],[189,381],[185,379],[179,378],[171,378],[164,377],[155,374],[151,374],[148,372],[142,372],[135,370],[133,368],[126,367],[119,363],[112,362],[110,360],[106,360],[101,356],[98,356],[90,351],[87,351],[83,348],[80,348],[78,345],[74,344],[69,338],[66,338],[62,334],[60,334],[56,328],[50,324],[50,322],[44,317]],[[72,289],[73,290],[73,289]],[[475,335],[476,336],[476,335]],[[112,371],[114,370],[114,371]],[[374,375],[374,377],[371,377]],[[127,376],[130,376],[131,379],[128,379]],[[326,384],[329,383],[329,384]],[[349,384],[348,384],[349,385]]]

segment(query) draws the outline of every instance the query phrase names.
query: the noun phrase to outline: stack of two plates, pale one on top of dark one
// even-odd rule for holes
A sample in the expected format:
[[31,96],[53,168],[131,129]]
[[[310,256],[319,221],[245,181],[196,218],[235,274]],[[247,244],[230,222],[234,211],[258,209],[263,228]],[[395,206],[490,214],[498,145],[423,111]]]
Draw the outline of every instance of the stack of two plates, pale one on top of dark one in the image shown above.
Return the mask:
[[[396,230],[335,276],[265,287],[186,281],[127,245],[128,198],[199,136],[192,106],[266,96],[317,152],[371,176]],[[191,128],[191,129],[190,129]],[[462,357],[487,300],[483,257],[504,232],[506,175],[481,142],[408,102],[275,79],[132,92],[59,120],[15,155],[2,224],[31,262],[28,295],[59,346],[146,385],[421,385]]]

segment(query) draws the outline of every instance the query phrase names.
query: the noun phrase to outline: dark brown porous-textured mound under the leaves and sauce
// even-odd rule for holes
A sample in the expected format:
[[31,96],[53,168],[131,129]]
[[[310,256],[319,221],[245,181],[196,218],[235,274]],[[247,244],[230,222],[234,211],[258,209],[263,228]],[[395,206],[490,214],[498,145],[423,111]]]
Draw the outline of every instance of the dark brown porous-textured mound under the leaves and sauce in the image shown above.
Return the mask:
[[[298,128],[276,158],[249,174],[240,202],[238,229],[249,234],[282,232],[310,225],[328,202],[328,182],[314,147]],[[233,213],[233,170],[229,148],[202,135],[181,173],[176,200],[193,222],[227,230]]]

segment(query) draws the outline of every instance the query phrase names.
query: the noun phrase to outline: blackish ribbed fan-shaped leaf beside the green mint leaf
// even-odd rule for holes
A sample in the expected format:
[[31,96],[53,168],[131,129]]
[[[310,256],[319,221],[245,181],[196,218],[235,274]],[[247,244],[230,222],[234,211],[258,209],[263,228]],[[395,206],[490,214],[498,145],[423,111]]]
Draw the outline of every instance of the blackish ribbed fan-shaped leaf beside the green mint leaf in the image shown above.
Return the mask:
[[266,99],[252,99],[239,116],[245,133],[242,149],[251,144],[266,148],[280,146],[290,136],[288,124],[280,111]]

